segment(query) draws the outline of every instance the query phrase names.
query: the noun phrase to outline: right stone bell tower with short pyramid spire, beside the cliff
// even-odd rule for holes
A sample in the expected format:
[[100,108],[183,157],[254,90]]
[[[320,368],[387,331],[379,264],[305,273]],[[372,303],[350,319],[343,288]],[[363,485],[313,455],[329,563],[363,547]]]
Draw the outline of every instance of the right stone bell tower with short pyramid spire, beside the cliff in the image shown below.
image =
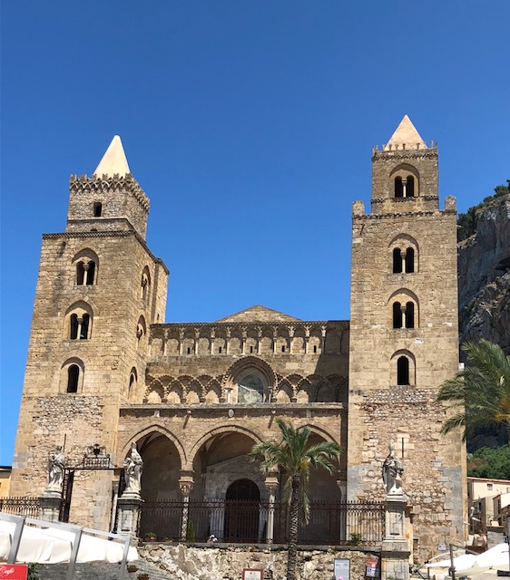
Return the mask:
[[465,449],[440,434],[458,370],[456,202],[439,209],[437,147],[407,116],[372,154],[371,211],[352,216],[348,498],[382,499],[393,442],[421,556],[464,535]]

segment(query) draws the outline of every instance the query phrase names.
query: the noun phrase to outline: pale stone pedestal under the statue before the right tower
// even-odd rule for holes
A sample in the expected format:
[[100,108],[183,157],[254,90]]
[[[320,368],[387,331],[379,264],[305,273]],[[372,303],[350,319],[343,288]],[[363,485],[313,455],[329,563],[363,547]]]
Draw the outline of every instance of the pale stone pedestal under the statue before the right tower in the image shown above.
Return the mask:
[[408,580],[411,551],[405,536],[407,497],[387,494],[386,534],[381,551],[381,580]]

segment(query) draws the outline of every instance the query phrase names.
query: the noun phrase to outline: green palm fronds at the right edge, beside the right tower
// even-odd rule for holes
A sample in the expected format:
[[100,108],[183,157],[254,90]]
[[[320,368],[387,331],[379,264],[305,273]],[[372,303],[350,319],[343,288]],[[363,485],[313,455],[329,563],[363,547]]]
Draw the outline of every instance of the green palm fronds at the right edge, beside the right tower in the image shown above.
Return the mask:
[[466,439],[479,427],[500,424],[510,435],[510,357],[485,340],[461,348],[467,355],[466,368],[443,382],[437,393],[437,401],[447,401],[447,409],[456,410],[441,432],[463,427]]

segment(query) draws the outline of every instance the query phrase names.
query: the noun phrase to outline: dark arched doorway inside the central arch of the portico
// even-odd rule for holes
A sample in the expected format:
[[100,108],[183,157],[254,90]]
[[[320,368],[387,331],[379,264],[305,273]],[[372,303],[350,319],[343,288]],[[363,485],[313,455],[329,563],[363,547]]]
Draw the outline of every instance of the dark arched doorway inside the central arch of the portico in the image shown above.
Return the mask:
[[227,542],[259,540],[260,490],[251,479],[237,479],[227,489],[224,536]]

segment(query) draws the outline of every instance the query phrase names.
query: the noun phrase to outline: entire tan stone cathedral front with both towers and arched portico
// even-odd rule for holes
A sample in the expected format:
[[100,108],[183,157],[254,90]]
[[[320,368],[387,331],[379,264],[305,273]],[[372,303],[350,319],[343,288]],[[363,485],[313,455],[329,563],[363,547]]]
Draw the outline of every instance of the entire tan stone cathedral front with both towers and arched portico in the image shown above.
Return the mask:
[[[43,236],[12,495],[42,495],[63,445],[70,521],[110,528],[135,442],[147,502],[262,501],[248,453],[281,418],[342,448],[332,475],[312,474],[312,500],[383,499],[393,442],[416,549],[462,541],[465,453],[458,433],[440,435],[435,400],[458,369],[455,199],[439,209],[436,146],[407,117],[372,164],[371,210],[353,204],[350,322],[257,305],[166,324],[169,271],[145,243],[149,199],[115,137],[91,177],[71,178],[65,232]],[[94,443],[109,469],[80,468]]]

